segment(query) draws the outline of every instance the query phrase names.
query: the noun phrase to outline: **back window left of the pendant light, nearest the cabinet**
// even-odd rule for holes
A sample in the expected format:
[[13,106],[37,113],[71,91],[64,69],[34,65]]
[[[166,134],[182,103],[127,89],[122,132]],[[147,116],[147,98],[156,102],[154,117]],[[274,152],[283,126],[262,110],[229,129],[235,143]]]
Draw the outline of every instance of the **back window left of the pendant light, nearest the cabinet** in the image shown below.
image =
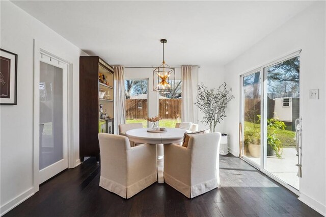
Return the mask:
[[147,127],[148,79],[125,80],[126,123],[142,123]]

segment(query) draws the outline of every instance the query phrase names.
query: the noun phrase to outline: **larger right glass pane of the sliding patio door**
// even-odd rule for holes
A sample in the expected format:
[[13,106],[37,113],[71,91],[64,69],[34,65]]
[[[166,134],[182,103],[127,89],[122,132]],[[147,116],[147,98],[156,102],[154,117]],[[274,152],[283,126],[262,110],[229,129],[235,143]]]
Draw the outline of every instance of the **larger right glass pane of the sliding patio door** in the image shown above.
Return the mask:
[[300,112],[300,59],[266,67],[266,156],[264,169],[298,189],[295,120]]

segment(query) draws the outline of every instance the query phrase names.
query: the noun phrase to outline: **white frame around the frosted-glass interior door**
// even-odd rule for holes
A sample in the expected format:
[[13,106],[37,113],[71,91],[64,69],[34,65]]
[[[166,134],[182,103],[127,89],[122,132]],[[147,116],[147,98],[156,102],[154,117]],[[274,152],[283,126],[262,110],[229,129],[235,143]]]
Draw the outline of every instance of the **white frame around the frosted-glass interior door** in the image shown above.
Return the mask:
[[40,53],[48,56],[53,60],[67,64],[67,79],[68,79],[68,96],[67,96],[67,143],[68,143],[68,168],[74,168],[74,143],[73,143],[73,77],[72,77],[72,63],[53,55],[41,48],[38,41],[33,40],[33,191],[39,191],[40,185]]

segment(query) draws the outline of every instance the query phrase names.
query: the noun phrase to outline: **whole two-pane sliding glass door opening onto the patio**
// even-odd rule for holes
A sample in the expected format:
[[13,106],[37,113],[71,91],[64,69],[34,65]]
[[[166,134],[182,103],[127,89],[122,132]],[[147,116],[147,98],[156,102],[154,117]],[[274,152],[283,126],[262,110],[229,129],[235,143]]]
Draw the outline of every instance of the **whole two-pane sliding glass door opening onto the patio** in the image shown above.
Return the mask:
[[298,54],[241,76],[242,157],[298,189],[295,123],[300,118]]

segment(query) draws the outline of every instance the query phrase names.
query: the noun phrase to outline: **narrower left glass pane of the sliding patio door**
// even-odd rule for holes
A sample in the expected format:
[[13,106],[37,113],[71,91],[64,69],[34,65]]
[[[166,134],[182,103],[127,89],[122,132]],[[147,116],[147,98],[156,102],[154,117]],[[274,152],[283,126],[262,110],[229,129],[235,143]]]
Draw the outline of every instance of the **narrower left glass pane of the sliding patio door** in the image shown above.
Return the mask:
[[256,71],[242,77],[242,155],[257,165],[261,157],[261,76]]

